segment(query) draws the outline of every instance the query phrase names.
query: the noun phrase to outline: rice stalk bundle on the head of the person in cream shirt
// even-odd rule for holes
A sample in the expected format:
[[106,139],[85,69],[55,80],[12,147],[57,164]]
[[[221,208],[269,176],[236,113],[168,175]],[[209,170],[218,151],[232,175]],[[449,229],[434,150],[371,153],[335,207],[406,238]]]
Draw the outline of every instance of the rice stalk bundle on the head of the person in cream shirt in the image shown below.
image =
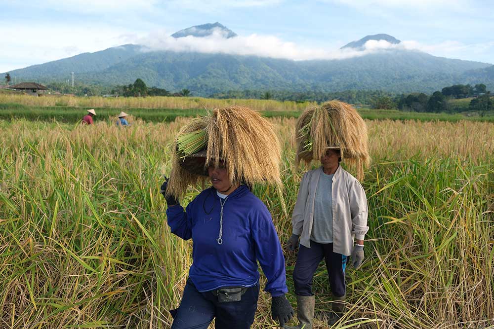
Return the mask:
[[357,179],[364,179],[364,168],[369,166],[369,136],[367,126],[350,105],[330,101],[305,110],[296,124],[296,166],[303,159],[309,163],[321,159],[328,148],[339,148],[341,158],[357,171]]

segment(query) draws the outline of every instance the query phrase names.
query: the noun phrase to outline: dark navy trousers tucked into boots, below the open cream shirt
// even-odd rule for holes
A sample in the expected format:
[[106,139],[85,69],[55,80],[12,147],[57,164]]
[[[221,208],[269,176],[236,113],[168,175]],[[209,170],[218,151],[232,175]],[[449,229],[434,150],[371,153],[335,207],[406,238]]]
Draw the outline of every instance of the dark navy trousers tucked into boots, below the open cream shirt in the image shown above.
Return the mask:
[[312,296],[312,277],[317,266],[325,258],[331,292],[341,297],[345,295],[345,267],[347,256],[333,253],[333,244],[310,241],[310,249],[300,245],[293,270],[295,293],[299,296]]

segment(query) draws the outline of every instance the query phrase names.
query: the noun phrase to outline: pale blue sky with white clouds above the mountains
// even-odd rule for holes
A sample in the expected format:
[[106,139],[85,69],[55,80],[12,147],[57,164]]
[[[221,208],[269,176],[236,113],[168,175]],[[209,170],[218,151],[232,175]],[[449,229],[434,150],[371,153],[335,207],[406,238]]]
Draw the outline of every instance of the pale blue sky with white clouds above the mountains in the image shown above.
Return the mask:
[[243,53],[247,44],[247,54],[339,58],[342,45],[386,33],[407,48],[494,63],[488,0],[0,0],[0,8],[0,72],[124,43],[173,49],[170,34],[214,22],[242,38],[193,49]]

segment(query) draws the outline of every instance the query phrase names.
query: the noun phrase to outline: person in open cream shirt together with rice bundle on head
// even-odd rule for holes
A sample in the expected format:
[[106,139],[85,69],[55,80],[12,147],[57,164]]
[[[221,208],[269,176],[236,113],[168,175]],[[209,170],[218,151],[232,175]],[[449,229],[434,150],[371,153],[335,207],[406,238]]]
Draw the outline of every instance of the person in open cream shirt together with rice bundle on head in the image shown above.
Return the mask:
[[326,261],[332,292],[330,326],[344,314],[345,268],[350,256],[355,269],[364,261],[364,238],[369,230],[366,193],[340,161],[354,167],[362,180],[369,164],[368,135],[359,113],[339,101],[305,110],[295,134],[296,165],[303,159],[307,163],[320,160],[321,166],[304,174],[293,209],[288,248],[299,247],[293,270],[299,325],[285,328],[310,329],[315,306],[312,277],[320,261]]

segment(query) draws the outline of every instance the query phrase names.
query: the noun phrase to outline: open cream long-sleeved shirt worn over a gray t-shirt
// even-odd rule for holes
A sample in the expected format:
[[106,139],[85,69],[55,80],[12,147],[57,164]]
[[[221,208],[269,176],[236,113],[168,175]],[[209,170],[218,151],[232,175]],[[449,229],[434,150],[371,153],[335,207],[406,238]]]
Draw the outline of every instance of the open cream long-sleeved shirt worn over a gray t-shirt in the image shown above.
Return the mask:
[[[300,244],[307,248],[310,248],[314,201],[322,172],[323,168],[319,167],[305,173],[291,217],[293,234],[299,235]],[[333,252],[350,256],[354,238],[364,240],[369,230],[366,192],[360,182],[341,166],[336,169],[332,181]]]

